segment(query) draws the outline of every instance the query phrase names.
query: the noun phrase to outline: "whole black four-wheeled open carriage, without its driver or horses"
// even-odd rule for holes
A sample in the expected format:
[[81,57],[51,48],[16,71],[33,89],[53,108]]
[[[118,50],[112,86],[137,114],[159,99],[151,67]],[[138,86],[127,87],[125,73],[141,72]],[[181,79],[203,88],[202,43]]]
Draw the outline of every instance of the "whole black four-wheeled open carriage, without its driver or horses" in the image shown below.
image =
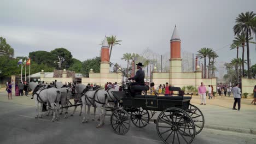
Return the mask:
[[112,92],[120,105],[110,117],[115,133],[127,133],[131,122],[138,128],[146,127],[155,111],[159,111],[154,122],[160,139],[165,143],[191,143],[203,128],[203,114],[190,104],[192,95],[185,97],[181,88],[169,88],[170,91],[175,91],[172,97],[158,97],[147,93],[142,95],[141,91],[149,89],[147,86],[131,85],[127,81],[123,83],[123,92]]

